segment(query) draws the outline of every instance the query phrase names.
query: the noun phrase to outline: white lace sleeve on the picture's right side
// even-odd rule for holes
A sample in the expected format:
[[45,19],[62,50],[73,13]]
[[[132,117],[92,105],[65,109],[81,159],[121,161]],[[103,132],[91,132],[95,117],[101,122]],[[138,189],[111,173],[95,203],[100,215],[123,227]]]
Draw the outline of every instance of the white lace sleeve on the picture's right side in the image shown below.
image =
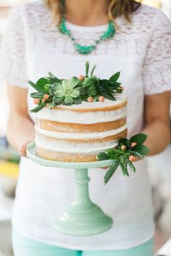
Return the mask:
[[171,23],[163,12],[157,11],[143,65],[146,95],[171,90]]

